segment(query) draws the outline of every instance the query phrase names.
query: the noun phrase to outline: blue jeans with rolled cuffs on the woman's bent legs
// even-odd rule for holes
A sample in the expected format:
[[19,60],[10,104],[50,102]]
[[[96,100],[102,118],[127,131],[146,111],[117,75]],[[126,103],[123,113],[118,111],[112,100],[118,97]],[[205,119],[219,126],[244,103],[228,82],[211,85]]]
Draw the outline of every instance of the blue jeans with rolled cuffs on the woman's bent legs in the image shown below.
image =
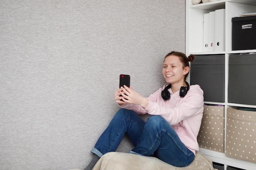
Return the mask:
[[110,121],[91,152],[101,157],[115,151],[125,134],[135,146],[130,153],[154,156],[177,167],[188,166],[194,160],[194,153],[163,117],[152,116],[144,122],[134,111],[123,108]]

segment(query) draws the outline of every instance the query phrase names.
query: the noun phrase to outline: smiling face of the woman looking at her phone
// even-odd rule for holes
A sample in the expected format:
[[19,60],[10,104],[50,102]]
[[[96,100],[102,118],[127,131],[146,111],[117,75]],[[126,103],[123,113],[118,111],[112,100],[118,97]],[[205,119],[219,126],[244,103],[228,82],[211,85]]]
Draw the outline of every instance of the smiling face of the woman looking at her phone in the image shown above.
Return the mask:
[[185,83],[185,75],[189,72],[189,67],[184,68],[180,58],[175,55],[169,55],[164,59],[163,75],[167,83],[172,85],[183,86]]

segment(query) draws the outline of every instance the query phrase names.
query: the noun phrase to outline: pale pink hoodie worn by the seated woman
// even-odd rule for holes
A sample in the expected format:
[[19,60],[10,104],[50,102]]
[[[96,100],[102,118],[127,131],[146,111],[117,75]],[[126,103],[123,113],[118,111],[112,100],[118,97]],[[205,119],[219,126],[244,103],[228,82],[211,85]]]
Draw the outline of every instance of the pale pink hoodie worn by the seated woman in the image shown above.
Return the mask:
[[[164,86],[166,87],[167,84]],[[179,135],[181,141],[192,152],[198,151],[198,132],[201,126],[204,110],[203,91],[199,85],[191,85],[185,97],[180,97],[180,91],[171,94],[169,100],[162,99],[159,88],[149,95],[148,106],[143,109],[140,105],[123,104],[121,107],[135,111],[137,114],[160,115],[166,119]]]

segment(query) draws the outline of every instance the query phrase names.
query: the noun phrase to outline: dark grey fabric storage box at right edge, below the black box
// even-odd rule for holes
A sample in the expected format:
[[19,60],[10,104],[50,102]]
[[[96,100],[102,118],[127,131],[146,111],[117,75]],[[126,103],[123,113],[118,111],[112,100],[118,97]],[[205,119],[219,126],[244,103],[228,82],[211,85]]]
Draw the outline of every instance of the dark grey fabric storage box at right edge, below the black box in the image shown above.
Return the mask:
[[256,105],[256,54],[229,55],[228,102]]

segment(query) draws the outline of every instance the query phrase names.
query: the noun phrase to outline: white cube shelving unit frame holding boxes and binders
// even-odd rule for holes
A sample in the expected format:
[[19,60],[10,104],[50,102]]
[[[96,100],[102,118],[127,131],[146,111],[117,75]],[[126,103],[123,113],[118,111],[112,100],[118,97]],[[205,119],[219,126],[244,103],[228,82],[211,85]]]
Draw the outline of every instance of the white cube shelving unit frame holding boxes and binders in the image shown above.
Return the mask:
[[[203,17],[204,13],[225,9],[225,51],[203,52]],[[236,53],[252,53],[253,50],[232,51],[232,22],[234,17],[240,17],[242,13],[256,12],[256,0],[217,0],[193,5],[192,0],[186,0],[186,55],[225,55],[225,102],[205,102],[207,104],[221,104],[225,106],[225,123],[227,120],[227,108],[232,106],[256,108],[256,105],[228,103],[228,63],[229,55]],[[226,124],[225,124],[226,129]],[[225,131],[226,134],[226,131]],[[256,148],[255,148],[256,149]],[[200,152],[209,157],[213,162],[227,166],[242,168],[245,170],[256,170],[256,163],[228,157],[225,153],[215,152],[200,148]]]

